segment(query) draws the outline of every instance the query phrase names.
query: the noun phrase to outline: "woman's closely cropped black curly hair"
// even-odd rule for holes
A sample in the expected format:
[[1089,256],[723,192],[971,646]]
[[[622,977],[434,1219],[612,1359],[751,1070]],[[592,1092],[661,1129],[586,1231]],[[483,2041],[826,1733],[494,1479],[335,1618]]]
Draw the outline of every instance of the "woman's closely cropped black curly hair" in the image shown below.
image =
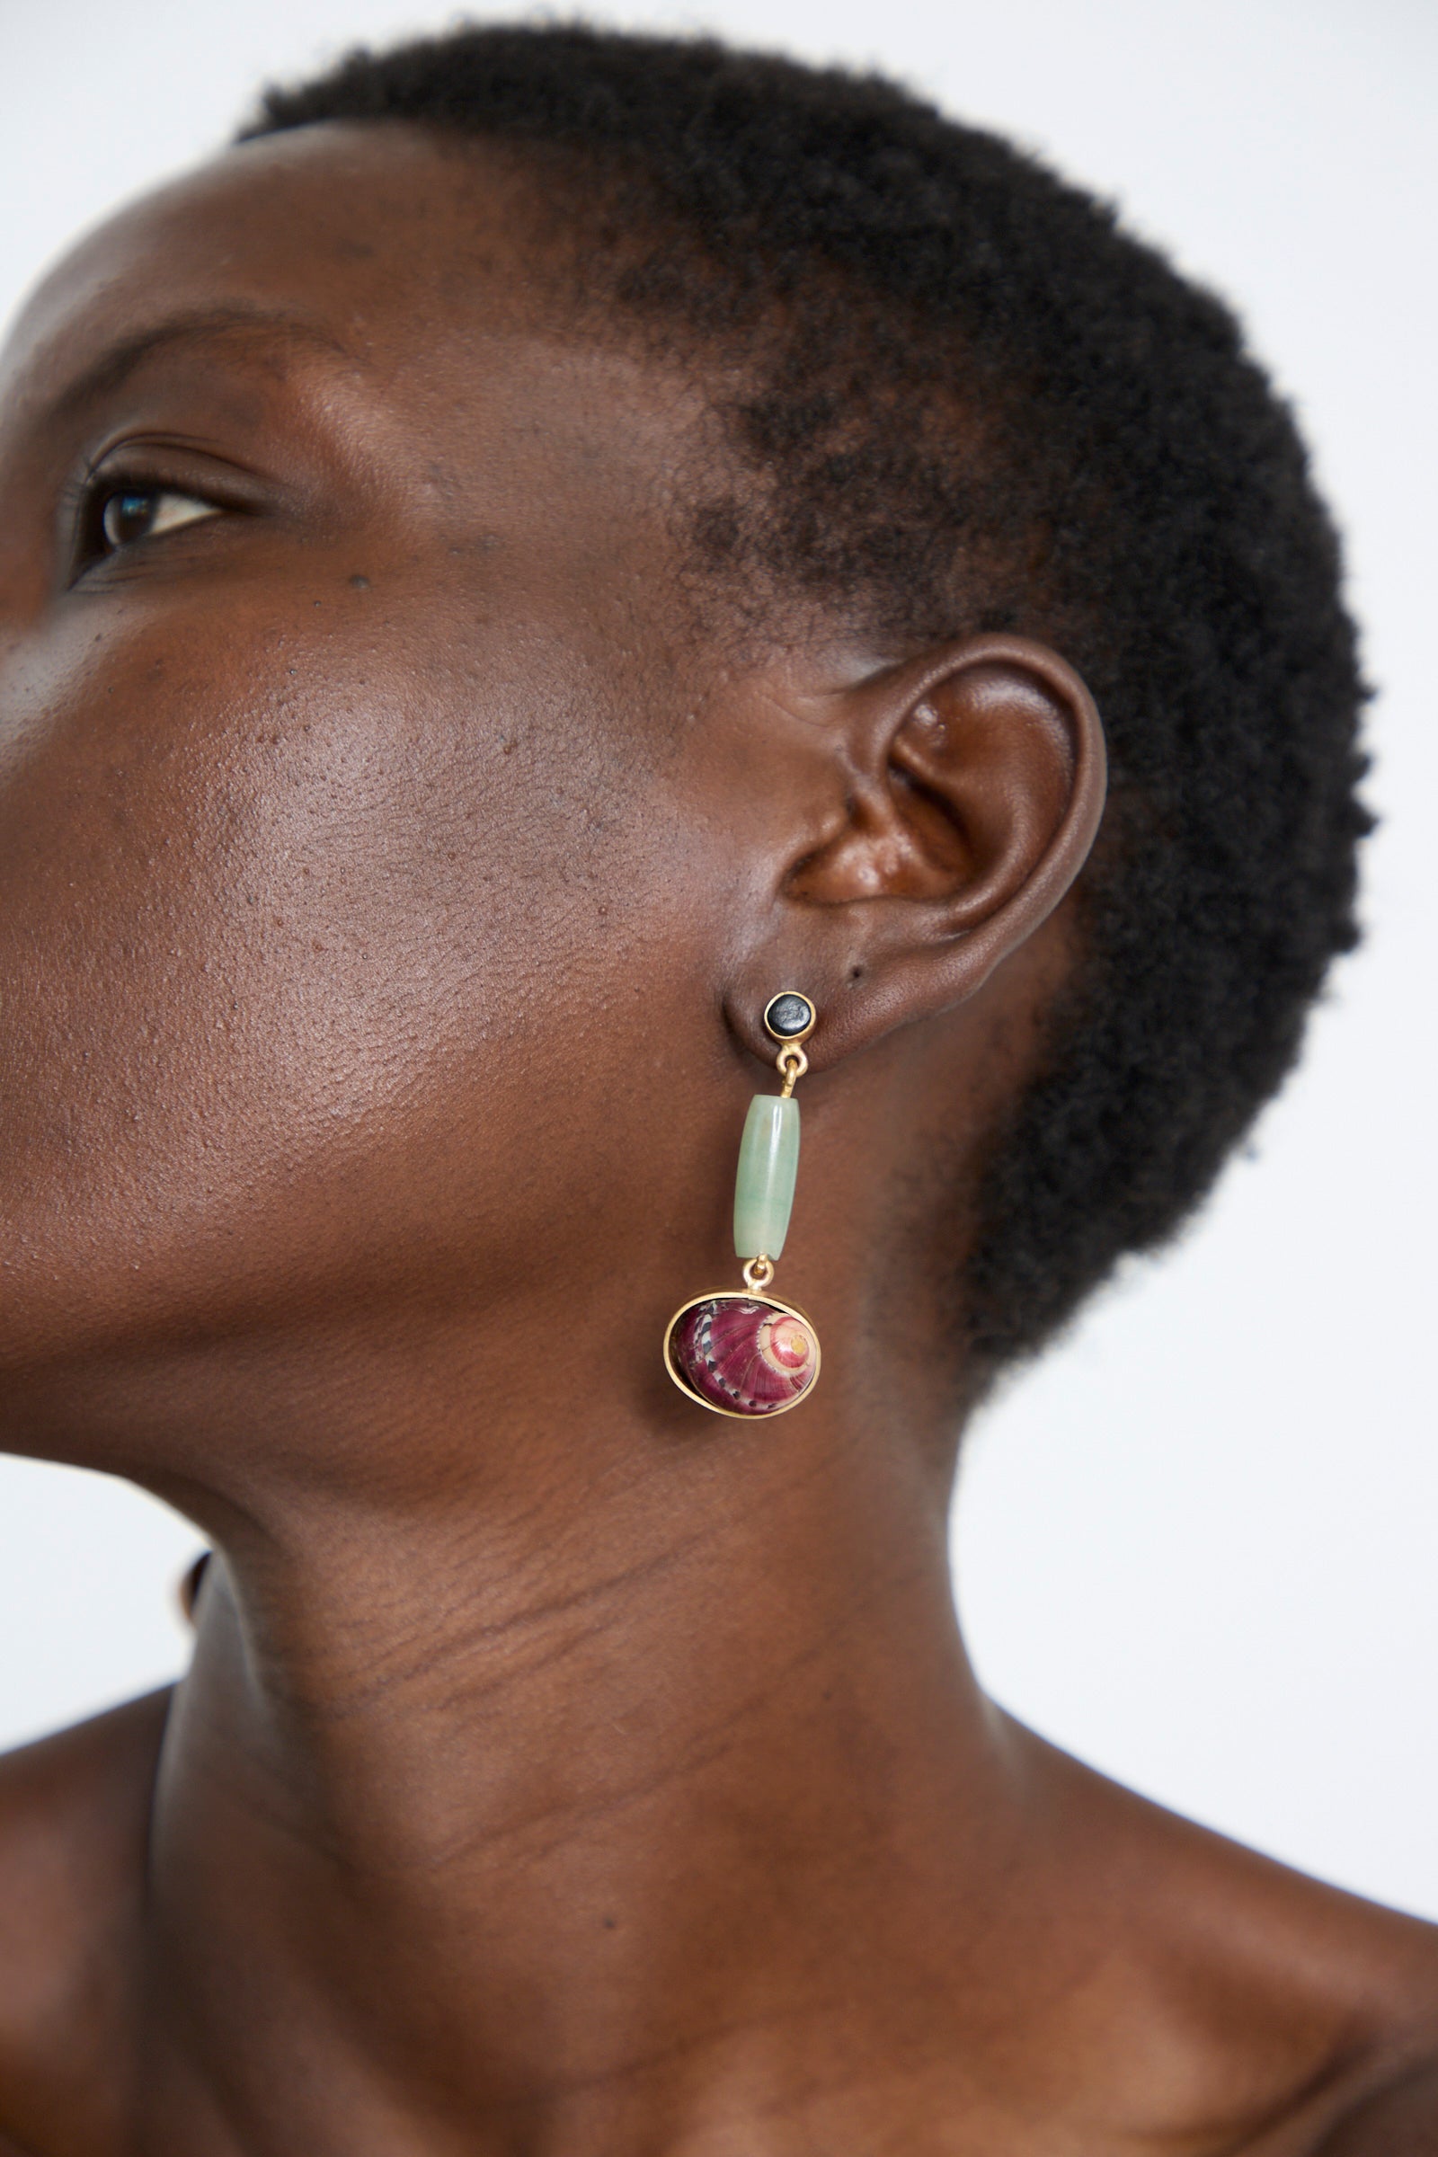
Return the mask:
[[589,181],[610,311],[727,384],[746,481],[694,505],[709,574],[897,649],[1018,630],[1087,677],[1112,789],[1084,958],[994,1135],[962,1283],[981,1368],[1037,1348],[1207,1193],[1356,940],[1363,684],[1285,406],[1106,207],[884,80],[466,28],[272,91],[248,134],[323,119]]

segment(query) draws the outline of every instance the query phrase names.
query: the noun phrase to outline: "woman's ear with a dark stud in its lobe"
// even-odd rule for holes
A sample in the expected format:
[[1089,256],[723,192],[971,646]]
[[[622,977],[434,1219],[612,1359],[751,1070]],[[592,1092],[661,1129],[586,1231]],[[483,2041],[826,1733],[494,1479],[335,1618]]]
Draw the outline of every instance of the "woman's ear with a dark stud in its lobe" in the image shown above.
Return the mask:
[[[1104,729],[1065,660],[974,636],[832,699],[824,800],[776,863],[731,984],[739,1038],[778,988],[819,1009],[815,1066],[972,997],[1059,906],[1104,813]],[[813,777],[813,774],[811,774]]]

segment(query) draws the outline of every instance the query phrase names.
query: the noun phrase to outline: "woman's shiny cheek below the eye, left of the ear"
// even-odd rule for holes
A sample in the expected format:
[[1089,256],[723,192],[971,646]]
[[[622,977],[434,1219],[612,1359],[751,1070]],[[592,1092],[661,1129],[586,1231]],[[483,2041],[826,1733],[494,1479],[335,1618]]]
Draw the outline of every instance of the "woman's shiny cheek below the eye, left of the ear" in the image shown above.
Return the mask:
[[623,714],[239,632],[6,688],[0,1335],[472,1279],[632,1173],[683,850]]

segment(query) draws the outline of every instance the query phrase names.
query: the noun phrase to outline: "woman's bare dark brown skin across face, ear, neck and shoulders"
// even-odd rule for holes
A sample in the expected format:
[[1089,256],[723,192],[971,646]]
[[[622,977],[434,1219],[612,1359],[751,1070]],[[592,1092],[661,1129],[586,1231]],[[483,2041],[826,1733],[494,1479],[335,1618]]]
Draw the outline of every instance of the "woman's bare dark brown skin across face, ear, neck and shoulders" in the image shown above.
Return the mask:
[[[0,1764],[0,2148],[1438,2151],[1438,1935],[955,1631],[938,1253],[1097,714],[1018,641],[739,651],[668,509],[711,451],[565,334],[522,175],[403,129],[220,160],[17,332],[0,1439],[222,1555],[172,1700]],[[106,554],[91,464],[168,528]],[[826,1363],[750,1428],[658,1350],[737,1279],[785,986]]]

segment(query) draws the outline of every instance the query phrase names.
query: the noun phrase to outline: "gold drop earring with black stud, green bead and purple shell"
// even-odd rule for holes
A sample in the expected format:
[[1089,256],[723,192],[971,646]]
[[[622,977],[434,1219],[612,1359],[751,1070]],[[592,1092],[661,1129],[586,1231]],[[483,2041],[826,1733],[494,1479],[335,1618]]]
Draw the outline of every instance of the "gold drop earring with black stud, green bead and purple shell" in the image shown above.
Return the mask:
[[770,997],[763,1029],[778,1042],[778,1094],[755,1094],[739,1141],[733,1247],[746,1260],[744,1288],[709,1288],[681,1303],[664,1333],[664,1368],[681,1393],[716,1415],[783,1415],[813,1391],[819,1335],[791,1303],[772,1296],[774,1260],[785,1247],[800,1167],[800,1104],[793,1087],[808,1070],[802,1042],[815,1029],[808,997]]

